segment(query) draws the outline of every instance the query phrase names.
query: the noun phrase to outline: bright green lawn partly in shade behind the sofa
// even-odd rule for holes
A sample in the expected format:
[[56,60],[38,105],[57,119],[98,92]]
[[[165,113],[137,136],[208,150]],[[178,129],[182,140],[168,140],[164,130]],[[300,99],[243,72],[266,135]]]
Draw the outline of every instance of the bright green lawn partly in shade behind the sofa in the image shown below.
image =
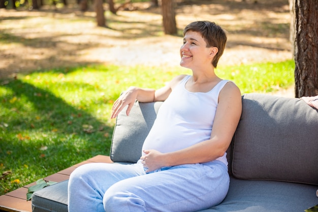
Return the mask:
[[[0,81],[0,195],[98,154],[109,155],[112,103],[131,85],[159,88],[181,67],[84,66]],[[242,93],[294,83],[294,62],[220,66]]]

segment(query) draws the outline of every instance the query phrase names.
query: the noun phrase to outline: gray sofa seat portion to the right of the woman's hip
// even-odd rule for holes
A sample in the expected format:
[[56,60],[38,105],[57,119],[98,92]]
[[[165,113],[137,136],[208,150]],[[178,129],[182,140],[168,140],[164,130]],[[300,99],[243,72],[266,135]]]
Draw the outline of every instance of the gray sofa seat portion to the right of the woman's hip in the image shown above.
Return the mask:
[[219,205],[202,211],[304,211],[318,203],[318,186],[277,181],[230,179],[228,195]]

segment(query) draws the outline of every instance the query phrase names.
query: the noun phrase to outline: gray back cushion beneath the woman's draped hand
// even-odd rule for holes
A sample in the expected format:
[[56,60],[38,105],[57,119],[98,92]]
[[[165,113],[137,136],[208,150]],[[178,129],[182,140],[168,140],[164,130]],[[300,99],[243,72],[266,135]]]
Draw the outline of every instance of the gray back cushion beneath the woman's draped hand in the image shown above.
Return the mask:
[[112,137],[112,161],[136,163],[140,159],[142,145],[162,103],[136,101],[129,116],[127,107],[119,113]]

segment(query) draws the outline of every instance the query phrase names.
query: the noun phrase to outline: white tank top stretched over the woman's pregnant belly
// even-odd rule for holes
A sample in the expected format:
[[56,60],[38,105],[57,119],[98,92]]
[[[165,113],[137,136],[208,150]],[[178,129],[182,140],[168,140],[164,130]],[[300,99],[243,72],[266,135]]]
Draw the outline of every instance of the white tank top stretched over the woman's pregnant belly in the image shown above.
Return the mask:
[[[220,81],[206,93],[189,92],[185,84],[190,77],[184,77],[160,107],[143,150],[167,153],[210,139],[218,95],[229,81]],[[217,160],[228,165],[226,153]]]

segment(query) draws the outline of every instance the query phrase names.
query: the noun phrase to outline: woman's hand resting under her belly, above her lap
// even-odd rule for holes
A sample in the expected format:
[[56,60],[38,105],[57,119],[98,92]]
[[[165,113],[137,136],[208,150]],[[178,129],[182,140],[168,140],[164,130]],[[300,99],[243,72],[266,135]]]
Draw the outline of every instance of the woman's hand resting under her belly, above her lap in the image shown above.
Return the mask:
[[165,166],[163,164],[163,153],[158,152],[156,150],[143,150],[143,152],[146,155],[141,156],[140,159],[143,166],[145,168],[148,168],[146,172],[154,171],[158,168]]

